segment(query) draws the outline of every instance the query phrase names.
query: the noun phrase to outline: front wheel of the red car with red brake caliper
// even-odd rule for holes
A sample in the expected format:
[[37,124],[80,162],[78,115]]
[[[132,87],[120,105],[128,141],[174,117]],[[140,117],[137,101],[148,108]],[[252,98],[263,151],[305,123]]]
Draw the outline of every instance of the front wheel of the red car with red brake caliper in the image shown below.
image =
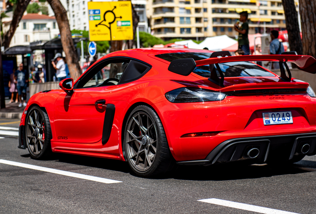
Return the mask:
[[52,131],[48,115],[40,107],[27,111],[25,139],[28,152],[33,159],[44,159],[52,154]]

